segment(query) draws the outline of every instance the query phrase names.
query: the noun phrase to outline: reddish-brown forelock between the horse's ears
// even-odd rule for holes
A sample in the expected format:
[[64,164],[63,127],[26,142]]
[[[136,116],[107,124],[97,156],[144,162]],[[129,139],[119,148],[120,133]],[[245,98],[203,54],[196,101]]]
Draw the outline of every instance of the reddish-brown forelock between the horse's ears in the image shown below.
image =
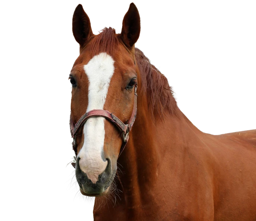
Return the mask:
[[113,56],[118,48],[118,39],[116,37],[116,29],[113,27],[104,27],[91,41],[92,57],[100,52],[106,52],[108,55]]

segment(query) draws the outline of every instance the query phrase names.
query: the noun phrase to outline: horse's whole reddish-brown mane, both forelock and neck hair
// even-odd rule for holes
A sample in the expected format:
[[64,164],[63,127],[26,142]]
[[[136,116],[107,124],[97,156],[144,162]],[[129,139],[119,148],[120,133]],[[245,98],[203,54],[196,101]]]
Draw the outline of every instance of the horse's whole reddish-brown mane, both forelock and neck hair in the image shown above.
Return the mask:
[[[90,43],[92,44],[92,57],[100,52],[106,52],[113,56],[119,45],[116,29],[104,27],[92,38]],[[155,120],[156,114],[162,116],[165,108],[170,114],[175,114],[178,104],[173,86],[170,86],[165,75],[154,64],[151,64],[149,58],[137,47],[135,47],[135,58],[142,78],[142,88],[139,90],[148,94],[152,120]]]

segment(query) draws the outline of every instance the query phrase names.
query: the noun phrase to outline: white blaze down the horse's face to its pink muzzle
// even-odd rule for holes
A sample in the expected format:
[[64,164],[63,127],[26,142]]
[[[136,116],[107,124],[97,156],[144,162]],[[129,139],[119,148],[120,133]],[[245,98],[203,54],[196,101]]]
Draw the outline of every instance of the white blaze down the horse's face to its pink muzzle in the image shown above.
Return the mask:
[[[103,109],[114,74],[114,60],[107,53],[100,53],[84,65],[84,70],[89,80],[86,112]],[[80,169],[93,183],[98,181],[99,174],[107,166],[107,161],[101,159],[105,138],[104,121],[104,117],[92,117],[86,121],[83,126],[84,143],[78,154]]]

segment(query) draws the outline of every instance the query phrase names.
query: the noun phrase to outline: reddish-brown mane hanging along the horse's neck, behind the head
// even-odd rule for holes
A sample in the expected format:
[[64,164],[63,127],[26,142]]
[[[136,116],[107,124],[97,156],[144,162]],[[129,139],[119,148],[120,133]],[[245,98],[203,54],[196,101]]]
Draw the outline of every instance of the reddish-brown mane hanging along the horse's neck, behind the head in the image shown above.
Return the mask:
[[165,108],[170,114],[176,114],[179,109],[177,95],[165,75],[154,64],[151,64],[149,58],[137,47],[135,48],[135,58],[142,78],[140,92],[148,94],[152,120],[154,121],[155,114],[162,116]]

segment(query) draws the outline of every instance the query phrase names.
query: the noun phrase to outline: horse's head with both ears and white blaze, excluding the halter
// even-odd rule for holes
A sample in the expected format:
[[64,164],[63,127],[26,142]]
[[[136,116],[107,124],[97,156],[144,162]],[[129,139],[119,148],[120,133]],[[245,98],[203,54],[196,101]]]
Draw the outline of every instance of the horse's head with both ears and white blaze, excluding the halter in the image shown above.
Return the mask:
[[[140,36],[140,16],[134,3],[124,16],[121,33],[106,28],[94,35],[88,15],[79,4],[72,18],[72,33],[79,56],[70,71],[71,110],[74,123],[86,112],[103,109],[128,123],[134,105],[138,69],[135,43]],[[123,138],[104,117],[91,117],[76,137],[76,178],[87,196],[107,194],[117,170]]]

